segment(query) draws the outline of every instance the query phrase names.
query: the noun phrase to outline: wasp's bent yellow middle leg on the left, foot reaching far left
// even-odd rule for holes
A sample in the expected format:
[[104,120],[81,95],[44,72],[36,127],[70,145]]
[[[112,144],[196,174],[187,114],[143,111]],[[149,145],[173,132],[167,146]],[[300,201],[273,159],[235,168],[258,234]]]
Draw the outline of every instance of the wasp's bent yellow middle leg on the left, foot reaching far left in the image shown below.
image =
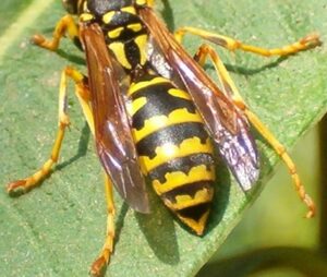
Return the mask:
[[[58,120],[58,133],[55,140],[55,144],[52,146],[50,158],[40,167],[38,171],[34,174],[13,181],[7,185],[7,191],[11,196],[21,195],[31,189],[37,186],[39,182],[49,176],[51,168],[58,161],[61,144],[63,141],[64,132],[66,127],[70,124],[70,119],[68,116],[68,107],[66,107],[66,79],[72,77],[76,83],[76,95],[82,103],[83,112],[87,119],[88,124],[90,125],[90,130],[94,130],[93,127],[93,118],[89,116],[90,107],[87,101],[88,88],[84,84],[84,76],[77,71],[66,68],[62,71],[61,81],[60,81],[60,89],[59,89],[59,120]],[[94,131],[93,131],[94,132]]]

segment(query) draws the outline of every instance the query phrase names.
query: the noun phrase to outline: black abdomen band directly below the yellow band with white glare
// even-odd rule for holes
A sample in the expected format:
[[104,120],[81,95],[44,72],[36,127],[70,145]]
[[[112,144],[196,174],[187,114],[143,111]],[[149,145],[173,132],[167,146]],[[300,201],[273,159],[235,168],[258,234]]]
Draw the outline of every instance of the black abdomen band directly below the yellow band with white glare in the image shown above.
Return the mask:
[[210,154],[199,153],[189,155],[186,157],[174,158],[166,164],[154,168],[148,172],[149,179],[158,180],[160,183],[165,183],[167,180],[165,176],[169,172],[182,171],[185,174],[190,172],[193,167],[205,165],[207,170],[214,165],[214,157]]

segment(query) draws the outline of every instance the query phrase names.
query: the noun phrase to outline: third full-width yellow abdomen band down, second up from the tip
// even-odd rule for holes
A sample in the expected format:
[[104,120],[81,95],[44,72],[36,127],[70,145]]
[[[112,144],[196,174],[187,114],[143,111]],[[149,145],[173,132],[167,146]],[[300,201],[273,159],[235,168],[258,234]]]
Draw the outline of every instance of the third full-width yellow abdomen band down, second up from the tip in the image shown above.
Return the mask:
[[193,167],[189,171],[189,173],[184,173],[182,171],[168,172],[165,174],[165,183],[160,183],[158,180],[153,181],[154,189],[158,195],[172,191],[173,189],[180,188],[186,183],[194,183],[199,181],[214,181],[215,168],[214,166],[211,166],[210,170],[207,170],[206,165],[199,165]]

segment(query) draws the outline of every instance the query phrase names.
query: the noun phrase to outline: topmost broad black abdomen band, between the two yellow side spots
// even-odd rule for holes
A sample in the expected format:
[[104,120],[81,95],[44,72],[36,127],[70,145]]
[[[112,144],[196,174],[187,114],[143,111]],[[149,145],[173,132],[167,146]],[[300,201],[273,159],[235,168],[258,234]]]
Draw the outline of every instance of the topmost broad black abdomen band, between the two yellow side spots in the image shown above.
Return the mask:
[[132,95],[132,100],[146,97],[146,105],[133,116],[134,129],[141,130],[146,119],[155,116],[168,116],[177,109],[186,108],[190,113],[195,113],[194,104],[191,100],[168,94],[170,88],[173,88],[172,84],[160,83],[144,87]]

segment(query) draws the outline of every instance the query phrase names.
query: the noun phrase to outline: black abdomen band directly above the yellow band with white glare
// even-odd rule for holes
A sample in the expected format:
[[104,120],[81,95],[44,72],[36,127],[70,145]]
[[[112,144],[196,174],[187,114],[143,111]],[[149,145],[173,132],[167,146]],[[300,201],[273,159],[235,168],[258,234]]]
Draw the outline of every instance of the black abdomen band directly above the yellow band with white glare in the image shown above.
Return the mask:
[[140,156],[154,158],[156,156],[155,150],[158,146],[167,143],[179,146],[184,140],[194,136],[198,137],[202,144],[206,143],[208,134],[203,123],[186,122],[169,125],[142,138],[136,143],[136,148]]

